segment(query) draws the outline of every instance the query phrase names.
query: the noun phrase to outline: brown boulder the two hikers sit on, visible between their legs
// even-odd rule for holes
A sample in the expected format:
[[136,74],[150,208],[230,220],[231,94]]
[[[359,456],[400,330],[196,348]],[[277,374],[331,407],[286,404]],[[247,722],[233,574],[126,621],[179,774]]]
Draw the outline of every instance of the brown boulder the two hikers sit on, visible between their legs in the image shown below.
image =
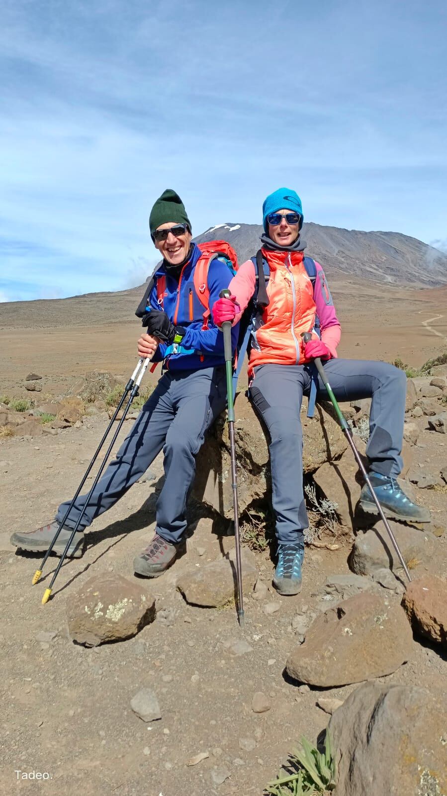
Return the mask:
[[[346,450],[344,434],[325,405],[317,405],[313,419],[306,417],[303,406],[301,423],[305,473],[313,473]],[[262,425],[242,392],[235,400],[235,449],[239,511],[243,512],[253,501],[265,498],[270,490],[270,462]],[[230,441],[225,416],[215,423],[197,455],[194,495],[223,517],[233,517]]]

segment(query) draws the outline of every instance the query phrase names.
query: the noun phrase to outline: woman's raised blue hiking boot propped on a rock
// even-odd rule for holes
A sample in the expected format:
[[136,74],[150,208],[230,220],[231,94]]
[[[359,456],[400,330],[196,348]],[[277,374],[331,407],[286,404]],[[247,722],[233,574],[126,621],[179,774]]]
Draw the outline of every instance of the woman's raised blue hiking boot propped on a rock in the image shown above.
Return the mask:
[[[396,478],[372,472],[369,479],[385,517],[409,522],[430,522],[430,511],[410,501]],[[367,514],[379,514],[367,484],[360,493],[360,507]]]

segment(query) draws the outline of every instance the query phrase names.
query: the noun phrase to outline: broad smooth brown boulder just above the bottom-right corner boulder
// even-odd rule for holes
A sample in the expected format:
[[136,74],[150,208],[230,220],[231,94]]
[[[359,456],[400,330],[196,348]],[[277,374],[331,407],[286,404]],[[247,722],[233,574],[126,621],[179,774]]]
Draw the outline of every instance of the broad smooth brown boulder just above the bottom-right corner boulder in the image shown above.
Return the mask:
[[286,669],[293,680],[336,688],[391,674],[408,661],[413,645],[402,607],[363,591],[315,619]]

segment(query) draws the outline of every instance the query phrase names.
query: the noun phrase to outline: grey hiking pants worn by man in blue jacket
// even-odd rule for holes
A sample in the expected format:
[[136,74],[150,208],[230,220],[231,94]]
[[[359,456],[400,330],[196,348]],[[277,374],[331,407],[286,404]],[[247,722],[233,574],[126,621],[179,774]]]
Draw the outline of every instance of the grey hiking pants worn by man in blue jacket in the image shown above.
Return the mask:
[[[157,533],[177,544],[186,530],[185,508],[204,434],[225,408],[225,368],[166,372],[144,404],[91,495],[79,530],[91,525],[138,480],[163,448],[165,483],[157,500]],[[80,495],[65,525],[74,528],[87,495]],[[59,506],[61,521],[70,501]]]

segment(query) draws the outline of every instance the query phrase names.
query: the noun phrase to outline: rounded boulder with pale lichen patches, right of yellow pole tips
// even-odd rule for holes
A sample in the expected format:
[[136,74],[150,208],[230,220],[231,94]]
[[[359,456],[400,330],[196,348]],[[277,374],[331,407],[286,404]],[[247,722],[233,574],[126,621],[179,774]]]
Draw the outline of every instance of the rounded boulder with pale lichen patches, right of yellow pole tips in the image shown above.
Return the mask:
[[103,572],[87,580],[67,601],[68,630],[85,646],[122,641],[155,618],[155,599],[122,575]]

